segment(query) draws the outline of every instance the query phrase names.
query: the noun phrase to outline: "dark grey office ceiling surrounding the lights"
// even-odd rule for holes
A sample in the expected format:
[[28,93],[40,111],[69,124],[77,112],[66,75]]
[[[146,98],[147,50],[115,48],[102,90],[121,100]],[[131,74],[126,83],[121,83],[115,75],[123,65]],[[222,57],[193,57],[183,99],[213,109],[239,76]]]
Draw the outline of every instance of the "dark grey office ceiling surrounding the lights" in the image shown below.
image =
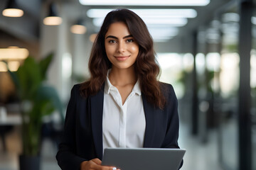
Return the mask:
[[[50,1],[46,0],[16,0],[18,5],[24,10],[24,16],[21,18],[7,18],[0,15],[0,32],[8,33],[20,40],[26,42],[38,42],[40,37],[40,26],[43,18],[42,13],[46,13],[47,4]],[[0,11],[6,6],[7,0],[0,1]],[[102,8],[102,6],[82,6],[78,0],[55,1],[58,4],[66,5],[65,15],[70,20],[70,23],[75,22],[82,17],[86,21],[86,26],[89,31],[95,31],[95,26],[92,25],[91,18],[87,18],[86,11],[90,8]],[[169,43],[175,43],[176,40],[185,38],[191,35],[194,30],[198,30],[199,26],[206,26],[215,16],[216,12],[220,11],[222,6],[234,2],[232,0],[211,0],[207,6],[125,6],[126,8],[193,8],[197,11],[196,18],[188,18],[186,26],[178,28],[176,38],[170,40]],[[104,8],[117,8],[117,6],[104,6]]]

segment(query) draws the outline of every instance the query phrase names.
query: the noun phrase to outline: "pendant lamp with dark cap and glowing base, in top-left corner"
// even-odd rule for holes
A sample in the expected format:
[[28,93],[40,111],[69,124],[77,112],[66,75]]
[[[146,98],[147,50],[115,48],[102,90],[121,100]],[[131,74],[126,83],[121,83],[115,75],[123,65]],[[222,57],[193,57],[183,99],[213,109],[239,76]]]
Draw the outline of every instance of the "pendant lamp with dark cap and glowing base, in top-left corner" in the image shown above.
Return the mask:
[[18,8],[18,5],[14,0],[9,0],[6,8],[4,11],[2,11],[3,16],[7,17],[21,17],[23,16],[23,13],[24,12],[21,10],[21,8]]

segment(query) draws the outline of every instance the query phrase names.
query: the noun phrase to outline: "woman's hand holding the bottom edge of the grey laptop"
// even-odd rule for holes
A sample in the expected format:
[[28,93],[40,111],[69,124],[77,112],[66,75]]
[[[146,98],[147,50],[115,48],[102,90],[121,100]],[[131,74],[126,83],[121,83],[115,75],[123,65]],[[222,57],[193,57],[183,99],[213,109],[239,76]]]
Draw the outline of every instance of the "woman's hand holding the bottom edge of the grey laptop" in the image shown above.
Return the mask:
[[102,166],[100,159],[91,159],[81,163],[80,170],[120,170],[114,166]]

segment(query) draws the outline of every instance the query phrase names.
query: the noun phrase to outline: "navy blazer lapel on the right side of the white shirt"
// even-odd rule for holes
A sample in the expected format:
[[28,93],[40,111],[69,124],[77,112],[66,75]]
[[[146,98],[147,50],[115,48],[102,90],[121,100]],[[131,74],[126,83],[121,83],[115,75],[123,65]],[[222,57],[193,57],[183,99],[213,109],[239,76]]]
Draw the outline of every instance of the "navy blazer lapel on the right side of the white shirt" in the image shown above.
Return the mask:
[[146,130],[145,130],[145,137],[144,137],[144,145],[143,147],[151,147],[153,144],[152,142],[154,137],[154,115],[156,114],[156,108],[151,106],[147,101],[144,94],[142,94],[142,101],[146,119]]

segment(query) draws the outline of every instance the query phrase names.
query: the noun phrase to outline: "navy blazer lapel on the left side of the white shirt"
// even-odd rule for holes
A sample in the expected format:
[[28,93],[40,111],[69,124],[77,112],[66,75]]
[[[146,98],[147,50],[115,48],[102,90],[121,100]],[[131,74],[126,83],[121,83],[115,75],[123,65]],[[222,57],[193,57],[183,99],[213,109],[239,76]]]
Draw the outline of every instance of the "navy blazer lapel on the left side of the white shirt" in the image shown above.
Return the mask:
[[102,113],[104,99],[104,84],[101,90],[90,97],[90,108],[92,118],[92,136],[95,143],[97,158],[102,159]]

